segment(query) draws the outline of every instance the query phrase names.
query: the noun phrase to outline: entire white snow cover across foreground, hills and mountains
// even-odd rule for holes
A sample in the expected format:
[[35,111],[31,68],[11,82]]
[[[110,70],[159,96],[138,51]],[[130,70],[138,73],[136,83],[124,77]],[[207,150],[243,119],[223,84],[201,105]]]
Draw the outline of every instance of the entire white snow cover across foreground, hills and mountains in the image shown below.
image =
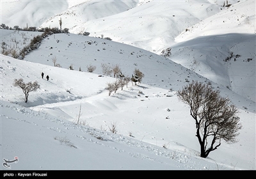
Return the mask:
[[[13,170],[255,170],[255,1],[228,2],[1,1],[8,26],[58,27],[61,17],[70,29],[24,60],[1,54],[1,161],[19,157]],[[40,34],[1,29],[1,42],[19,51]],[[168,47],[172,55],[159,56]],[[224,61],[230,52],[239,58]],[[102,63],[145,77],[109,96],[116,79],[102,75]],[[19,78],[40,84],[28,103],[13,86]],[[243,125],[238,143],[222,141],[206,159],[189,106],[176,95],[193,80],[230,98]]]

